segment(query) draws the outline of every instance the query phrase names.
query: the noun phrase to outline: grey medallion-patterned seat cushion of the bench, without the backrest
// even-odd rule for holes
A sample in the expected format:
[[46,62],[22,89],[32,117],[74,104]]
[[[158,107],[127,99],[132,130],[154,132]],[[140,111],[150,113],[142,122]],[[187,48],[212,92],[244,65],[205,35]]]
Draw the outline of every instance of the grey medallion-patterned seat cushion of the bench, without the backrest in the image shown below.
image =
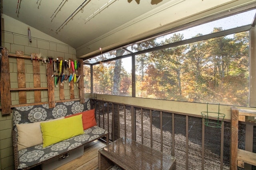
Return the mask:
[[58,156],[59,154],[75,149],[76,147],[98,139],[103,135],[106,135],[107,133],[107,130],[102,129],[98,126],[94,126],[84,130],[83,135],[72,137],[70,139],[55,143],[45,148],[43,148],[43,145],[41,144],[34,147],[22,149],[18,152],[18,169],[23,169],[38,164],[40,162],[44,162],[45,160],[53,158],[54,156]]

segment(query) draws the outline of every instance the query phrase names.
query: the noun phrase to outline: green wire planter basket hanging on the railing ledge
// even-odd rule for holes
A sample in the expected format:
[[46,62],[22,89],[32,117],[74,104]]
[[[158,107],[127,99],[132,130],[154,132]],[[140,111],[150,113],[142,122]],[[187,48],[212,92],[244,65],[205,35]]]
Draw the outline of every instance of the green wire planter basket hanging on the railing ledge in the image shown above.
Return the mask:
[[224,120],[225,117],[225,114],[220,113],[220,104],[218,112],[210,112],[208,111],[207,103],[207,111],[202,111],[201,114],[204,119],[204,125],[208,127],[221,127],[222,121]]

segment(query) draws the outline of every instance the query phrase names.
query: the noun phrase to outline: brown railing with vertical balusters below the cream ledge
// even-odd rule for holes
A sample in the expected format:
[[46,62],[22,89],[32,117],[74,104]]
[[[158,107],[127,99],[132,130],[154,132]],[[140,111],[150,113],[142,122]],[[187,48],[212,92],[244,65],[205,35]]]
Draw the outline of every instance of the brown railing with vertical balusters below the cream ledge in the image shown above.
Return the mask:
[[221,128],[206,127],[196,115],[91,101],[97,124],[110,132],[112,141],[129,137],[175,156],[177,170],[230,168],[230,122],[223,121]]

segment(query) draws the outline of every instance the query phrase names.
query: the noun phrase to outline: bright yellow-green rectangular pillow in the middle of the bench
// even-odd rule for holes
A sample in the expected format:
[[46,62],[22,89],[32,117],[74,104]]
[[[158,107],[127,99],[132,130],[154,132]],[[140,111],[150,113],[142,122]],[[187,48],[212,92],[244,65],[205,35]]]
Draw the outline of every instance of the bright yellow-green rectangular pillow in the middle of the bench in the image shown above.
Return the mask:
[[43,147],[84,133],[82,115],[40,123],[40,125],[43,134]]

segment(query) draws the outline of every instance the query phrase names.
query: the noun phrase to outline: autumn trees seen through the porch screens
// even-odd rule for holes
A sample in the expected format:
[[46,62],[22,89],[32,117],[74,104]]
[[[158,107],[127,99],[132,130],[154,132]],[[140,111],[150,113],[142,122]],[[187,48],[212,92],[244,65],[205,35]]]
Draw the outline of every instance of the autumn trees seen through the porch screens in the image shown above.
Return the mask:
[[[213,33],[222,28],[214,28]],[[196,37],[201,36],[198,34]],[[142,51],[184,40],[174,33],[164,41],[132,45]],[[122,56],[118,49],[108,55]],[[216,37],[135,56],[136,97],[248,106],[249,32]],[[132,74],[122,59],[93,66],[93,93],[132,96]],[[90,67],[85,66],[90,92]]]

